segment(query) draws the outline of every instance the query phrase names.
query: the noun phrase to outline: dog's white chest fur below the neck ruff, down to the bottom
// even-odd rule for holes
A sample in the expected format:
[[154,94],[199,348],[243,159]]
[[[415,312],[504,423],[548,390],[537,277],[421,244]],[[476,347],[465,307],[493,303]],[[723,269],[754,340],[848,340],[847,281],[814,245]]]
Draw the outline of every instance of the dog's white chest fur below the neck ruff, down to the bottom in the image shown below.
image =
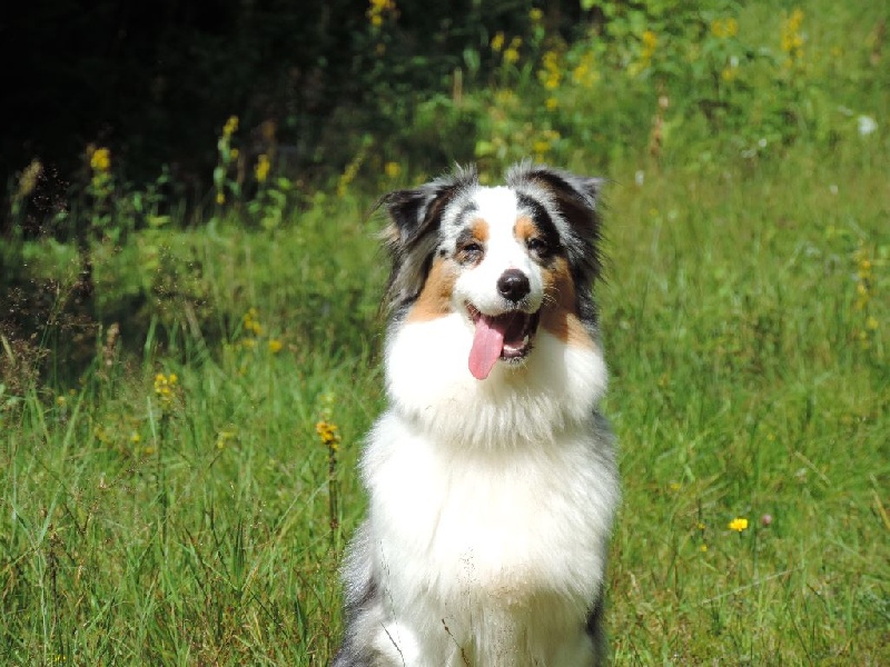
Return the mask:
[[458,665],[467,651],[474,665],[506,665],[501,654],[563,664],[554,656],[586,641],[602,585],[617,497],[603,451],[581,429],[537,449],[443,450],[399,417],[382,418],[364,474],[392,619],[384,644],[400,634],[407,665],[412,646],[441,665],[458,648]]

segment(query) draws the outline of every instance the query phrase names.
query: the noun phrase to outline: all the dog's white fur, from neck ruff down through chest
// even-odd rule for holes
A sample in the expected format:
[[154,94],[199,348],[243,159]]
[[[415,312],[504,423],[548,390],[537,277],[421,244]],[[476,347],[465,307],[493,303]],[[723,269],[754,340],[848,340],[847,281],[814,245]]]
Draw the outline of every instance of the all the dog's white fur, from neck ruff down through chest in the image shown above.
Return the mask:
[[542,331],[525,366],[481,382],[468,345],[445,317],[387,350],[392,407],[363,459],[378,649],[415,667],[586,665],[619,496],[593,418],[602,356]]

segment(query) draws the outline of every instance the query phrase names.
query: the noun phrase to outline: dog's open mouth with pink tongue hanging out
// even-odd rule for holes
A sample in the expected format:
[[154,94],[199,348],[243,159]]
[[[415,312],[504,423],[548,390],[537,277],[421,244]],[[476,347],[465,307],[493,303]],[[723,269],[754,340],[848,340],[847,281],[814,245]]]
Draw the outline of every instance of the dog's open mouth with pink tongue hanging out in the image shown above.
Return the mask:
[[476,327],[469,350],[469,372],[477,380],[487,378],[498,359],[516,361],[531,351],[540,310],[483,315],[471,303],[466,305],[466,310]]

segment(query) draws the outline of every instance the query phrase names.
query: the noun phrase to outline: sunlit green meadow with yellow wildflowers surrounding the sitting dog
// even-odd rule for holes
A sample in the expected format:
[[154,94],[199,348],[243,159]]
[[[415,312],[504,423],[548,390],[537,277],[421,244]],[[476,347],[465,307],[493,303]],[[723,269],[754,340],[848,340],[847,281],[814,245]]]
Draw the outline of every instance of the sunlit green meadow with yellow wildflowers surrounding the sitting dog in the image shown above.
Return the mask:
[[[682,110],[712,77],[671,88],[685,56],[631,19],[630,54],[541,38],[526,69],[506,36],[498,80],[462,102],[487,178],[527,155],[610,179],[596,295],[623,480],[615,665],[890,664],[881,14],[803,17],[706,19],[709,71],[750,77],[720,91],[718,118]],[[749,37],[772,39],[774,62],[733,60],[728,40]],[[659,64],[659,49],[678,52]],[[540,117],[515,101],[531,94]],[[642,139],[610,148],[572,115],[600,100],[606,135],[637,118]],[[428,175],[369,146],[299,206],[268,166],[236,206],[236,142],[227,125],[201,226],[164,207],[137,225],[113,203],[135,193],[93,160],[95,326],[63,317],[77,245],[17,246],[31,279],[52,278],[58,326],[0,336],[0,664],[326,665],[337,647],[355,464],[385,401],[368,213]]]

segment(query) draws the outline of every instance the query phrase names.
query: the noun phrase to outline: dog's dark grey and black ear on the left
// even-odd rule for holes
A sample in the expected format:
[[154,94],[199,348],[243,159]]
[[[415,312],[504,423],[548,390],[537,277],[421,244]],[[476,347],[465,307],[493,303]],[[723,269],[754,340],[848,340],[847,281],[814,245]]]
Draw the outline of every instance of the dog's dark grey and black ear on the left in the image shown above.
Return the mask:
[[396,190],[377,202],[378,208],[386,208],[390,220],[384,232],[393,259],[387,289],[390,308],[411,303],[421,293],[438,245],[443,212],[476,183],[475,168],[457,167],[446,177],[414,190]]

